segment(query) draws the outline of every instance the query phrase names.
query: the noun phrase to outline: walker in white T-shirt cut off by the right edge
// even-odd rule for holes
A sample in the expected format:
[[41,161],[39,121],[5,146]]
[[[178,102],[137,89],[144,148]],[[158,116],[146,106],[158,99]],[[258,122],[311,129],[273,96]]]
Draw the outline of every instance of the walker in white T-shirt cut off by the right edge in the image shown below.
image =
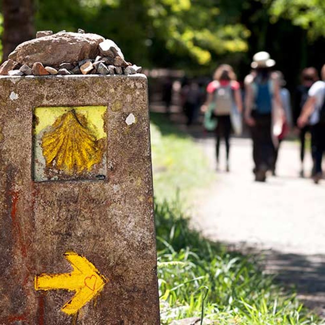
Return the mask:
[[308,99],[297,121],[300,128],[303,128],[308,121],[311,125],[315,184],[318,184],[322,178],[322,157],[325,152],[325,64],[321,70],[321,77],[323,81],[317,81],[310,87]]

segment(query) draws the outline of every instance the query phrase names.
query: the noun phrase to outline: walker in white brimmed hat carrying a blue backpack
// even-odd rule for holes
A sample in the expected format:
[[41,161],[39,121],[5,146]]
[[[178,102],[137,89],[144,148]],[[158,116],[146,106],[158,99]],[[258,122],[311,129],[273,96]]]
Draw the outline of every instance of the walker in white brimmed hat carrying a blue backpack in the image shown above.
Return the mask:
[[271,75],[274,65],[267,52],[256,53],[251,64],[254,77],[246,82],[244,119],[251,128],[253,172],[259,182],[265,182],[266,172],[274,168],[275,148],[285,121],[279,83]]

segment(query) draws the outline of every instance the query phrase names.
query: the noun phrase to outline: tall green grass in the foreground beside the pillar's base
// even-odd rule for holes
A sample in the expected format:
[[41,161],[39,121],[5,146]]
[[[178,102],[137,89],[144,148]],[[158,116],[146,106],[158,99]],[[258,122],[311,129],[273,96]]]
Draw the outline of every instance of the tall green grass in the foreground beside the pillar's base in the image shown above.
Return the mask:
[[229,253],[191,230],[182,210],[177,201],[155,206],[163,325],[194,316],[222,325],[322,324],[253,256]]

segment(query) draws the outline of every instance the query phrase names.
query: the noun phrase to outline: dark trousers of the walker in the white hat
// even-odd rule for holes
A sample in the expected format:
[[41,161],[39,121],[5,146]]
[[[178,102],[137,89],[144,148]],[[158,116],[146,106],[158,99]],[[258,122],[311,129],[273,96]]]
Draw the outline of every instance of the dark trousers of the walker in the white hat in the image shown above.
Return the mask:
[[255,126],[251,128],[255,170],[272,170],[275,161],[275,148],[271,137],[271,114],[254,114],[253,117],[256,122]]

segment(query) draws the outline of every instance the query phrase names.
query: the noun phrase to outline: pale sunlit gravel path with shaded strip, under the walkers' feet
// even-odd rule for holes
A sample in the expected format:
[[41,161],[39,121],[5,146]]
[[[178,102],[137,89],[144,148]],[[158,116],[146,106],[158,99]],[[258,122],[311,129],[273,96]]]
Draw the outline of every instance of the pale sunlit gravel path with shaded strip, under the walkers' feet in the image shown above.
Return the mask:
[[[198,140],[215,168],[214,140]],[[220,148],[222,153],[225,149]],[[325,315],[325,180],[297,177],[296,143],[281,144],[277,177],[253,181],[251,140],[232,139],[231,172],[224,156],[217,181],[194,202],[193,223],[204,236],[263,253],[266,272],[294,284],[306,305]],[[306,157],[305,170],[311,170]],[[307,173],[306,173],[307,174]]]

